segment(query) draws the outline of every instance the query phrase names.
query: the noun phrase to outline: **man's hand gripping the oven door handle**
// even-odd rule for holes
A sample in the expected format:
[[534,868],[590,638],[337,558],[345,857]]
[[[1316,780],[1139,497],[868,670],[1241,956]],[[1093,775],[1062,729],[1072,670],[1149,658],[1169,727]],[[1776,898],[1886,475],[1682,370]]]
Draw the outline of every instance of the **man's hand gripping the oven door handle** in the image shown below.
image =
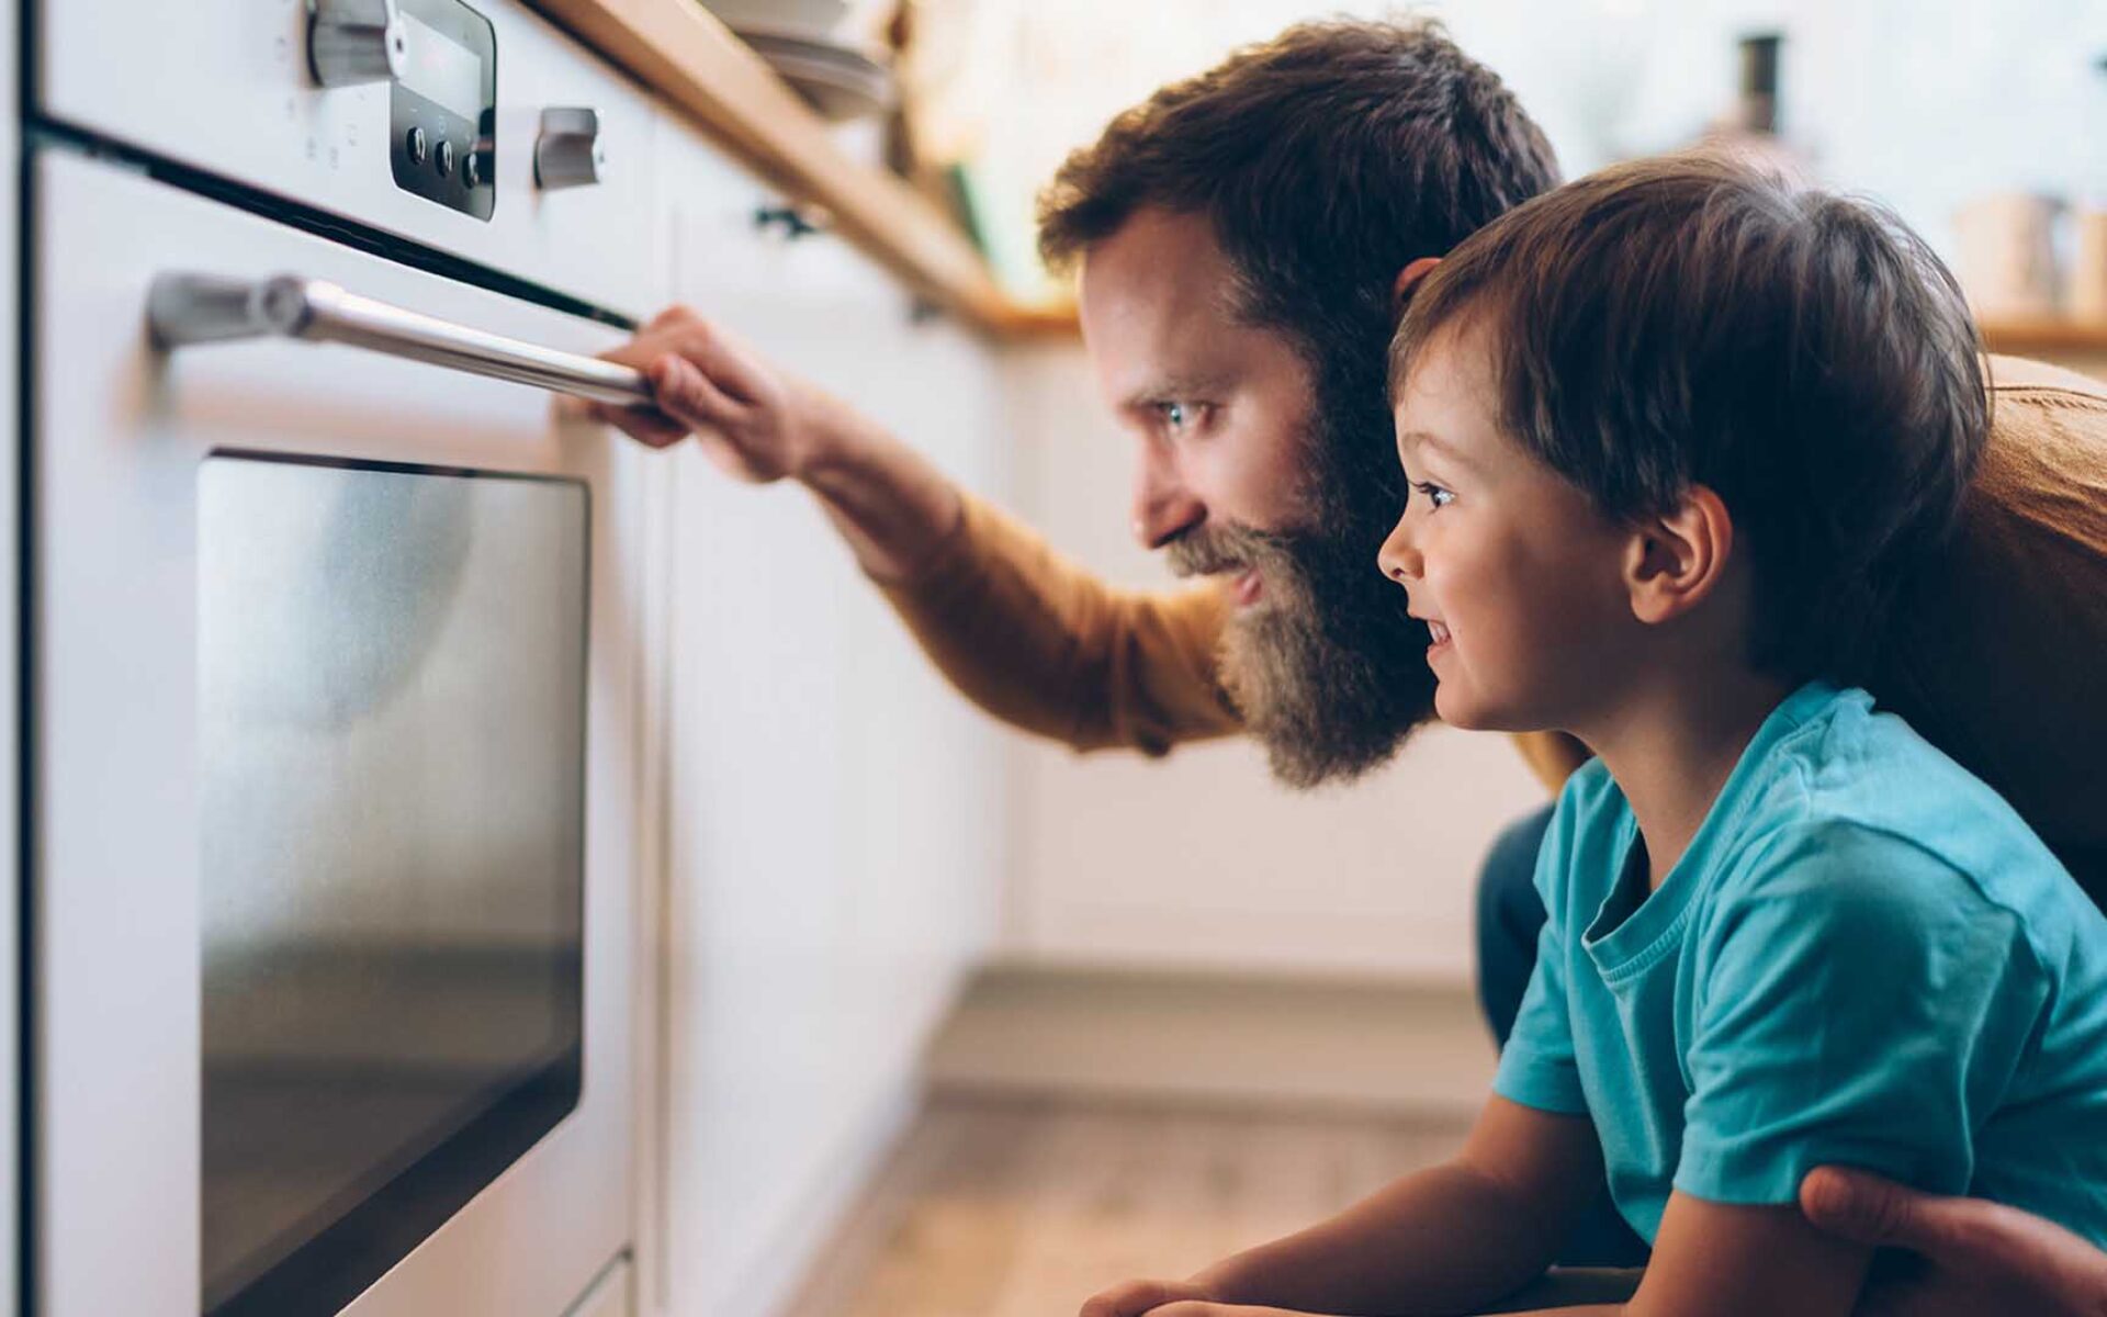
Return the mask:
[[693,434],[718,468],[742,480],[803,476],[839,411],[832,398],[773,369],[685,306],[659,312],[605,358],[643,371],[657,409],[594,402],[592,415],[653,449]]

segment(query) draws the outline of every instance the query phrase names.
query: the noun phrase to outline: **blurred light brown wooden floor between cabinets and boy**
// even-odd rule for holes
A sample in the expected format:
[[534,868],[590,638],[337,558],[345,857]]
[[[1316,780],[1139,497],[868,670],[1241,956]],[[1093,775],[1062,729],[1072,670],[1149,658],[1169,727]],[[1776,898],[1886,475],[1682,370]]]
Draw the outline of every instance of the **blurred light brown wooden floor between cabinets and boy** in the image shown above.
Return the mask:
[[1452,1153],[1386,1117],[940,1098],[807,1279],[794,1317],[1066,1317],[1180,1277]]

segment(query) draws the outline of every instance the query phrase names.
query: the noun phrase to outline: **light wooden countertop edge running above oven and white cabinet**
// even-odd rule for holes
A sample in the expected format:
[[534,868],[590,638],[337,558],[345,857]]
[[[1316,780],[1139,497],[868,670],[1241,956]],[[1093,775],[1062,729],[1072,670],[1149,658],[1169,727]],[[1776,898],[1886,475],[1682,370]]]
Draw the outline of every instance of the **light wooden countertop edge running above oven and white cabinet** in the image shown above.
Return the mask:
[[834,228],[917,293],[986,333],[1030,337],[1041,316],[997,287],[980,251],[900,179],[845,156],[826,124],[697,0],[531,0],[733,156]]

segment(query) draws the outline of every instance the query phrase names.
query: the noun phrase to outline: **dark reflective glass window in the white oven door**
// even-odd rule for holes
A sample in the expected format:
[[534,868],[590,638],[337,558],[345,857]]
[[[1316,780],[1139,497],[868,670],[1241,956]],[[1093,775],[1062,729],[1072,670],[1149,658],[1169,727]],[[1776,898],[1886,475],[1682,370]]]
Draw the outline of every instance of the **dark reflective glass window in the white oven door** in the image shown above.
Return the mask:
[[202,1311],[335,1313],[577,1104],[588,491],[198,468]]

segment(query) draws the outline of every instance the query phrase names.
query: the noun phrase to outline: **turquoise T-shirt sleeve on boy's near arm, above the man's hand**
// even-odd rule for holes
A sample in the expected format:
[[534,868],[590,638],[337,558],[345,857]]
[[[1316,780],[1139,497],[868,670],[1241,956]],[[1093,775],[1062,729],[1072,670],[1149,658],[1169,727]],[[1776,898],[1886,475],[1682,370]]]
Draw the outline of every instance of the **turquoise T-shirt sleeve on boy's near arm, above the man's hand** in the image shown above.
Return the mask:
[[1960,1193],[2048,997],[2019,917],[1915,843],[1829,826],[1700,927],[1675,1188],[1791,1203],[1816,1165]]

